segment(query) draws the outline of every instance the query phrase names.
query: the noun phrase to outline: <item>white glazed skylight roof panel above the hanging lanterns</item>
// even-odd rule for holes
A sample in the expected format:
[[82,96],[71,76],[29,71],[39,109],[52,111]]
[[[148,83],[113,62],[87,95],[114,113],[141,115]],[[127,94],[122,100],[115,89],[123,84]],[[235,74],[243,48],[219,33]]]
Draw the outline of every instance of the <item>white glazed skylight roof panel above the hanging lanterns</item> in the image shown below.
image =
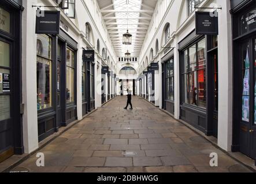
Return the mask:
[[[107,31],[118,57],[124,57],[127,49],[132,57],[138,57],[157,0],[97,0]],[[123,34],[132,34],[132,45],[123,45]]]

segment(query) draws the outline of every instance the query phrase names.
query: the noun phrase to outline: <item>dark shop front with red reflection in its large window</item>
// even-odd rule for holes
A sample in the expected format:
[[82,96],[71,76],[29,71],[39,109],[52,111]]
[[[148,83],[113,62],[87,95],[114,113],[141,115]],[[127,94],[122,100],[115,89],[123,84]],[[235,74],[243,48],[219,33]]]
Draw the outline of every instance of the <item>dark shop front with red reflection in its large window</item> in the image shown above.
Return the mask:
[[179,43],[180,118],[204,132],[218,132],[217,36],[191,32]]

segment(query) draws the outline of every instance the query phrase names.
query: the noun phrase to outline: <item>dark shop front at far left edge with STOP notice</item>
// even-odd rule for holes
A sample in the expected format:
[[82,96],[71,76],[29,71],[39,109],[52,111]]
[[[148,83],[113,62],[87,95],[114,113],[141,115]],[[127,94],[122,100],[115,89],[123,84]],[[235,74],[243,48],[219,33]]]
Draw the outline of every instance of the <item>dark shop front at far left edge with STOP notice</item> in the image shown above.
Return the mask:
[[22,1],[0,2],[0,162],[24,152],[21,5]]

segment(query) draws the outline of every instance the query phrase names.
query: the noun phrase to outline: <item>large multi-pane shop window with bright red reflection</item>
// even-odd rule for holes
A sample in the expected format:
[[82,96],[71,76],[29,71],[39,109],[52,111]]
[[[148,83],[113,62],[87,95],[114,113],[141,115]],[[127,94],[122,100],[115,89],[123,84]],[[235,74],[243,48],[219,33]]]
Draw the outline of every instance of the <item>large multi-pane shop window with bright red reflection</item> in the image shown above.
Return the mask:
[[185,104],[206,108],[205,39],[184,51],[183,89]]

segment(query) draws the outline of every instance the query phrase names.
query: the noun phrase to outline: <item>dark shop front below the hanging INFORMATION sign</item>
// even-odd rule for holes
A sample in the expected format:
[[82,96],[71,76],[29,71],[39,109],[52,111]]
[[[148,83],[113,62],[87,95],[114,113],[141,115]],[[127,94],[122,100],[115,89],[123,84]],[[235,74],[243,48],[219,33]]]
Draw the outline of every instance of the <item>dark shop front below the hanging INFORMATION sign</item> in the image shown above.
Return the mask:
[[37,34],[38,135],[42,141],[77,119],[77,43],[64,30]]

